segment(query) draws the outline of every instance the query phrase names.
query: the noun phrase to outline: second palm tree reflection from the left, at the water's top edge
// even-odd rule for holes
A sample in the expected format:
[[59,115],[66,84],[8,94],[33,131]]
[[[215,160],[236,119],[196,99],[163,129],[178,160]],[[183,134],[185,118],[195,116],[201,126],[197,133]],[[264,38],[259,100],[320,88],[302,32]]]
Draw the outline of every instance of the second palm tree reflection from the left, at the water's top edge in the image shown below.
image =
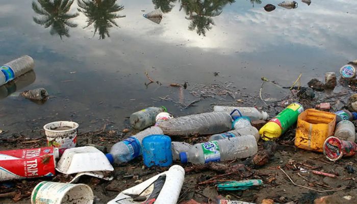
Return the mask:
[[78,0],[78,6],[81,8],[78,11],[88,18],[87,25],[84,28],[93,24],[93,36],[98,31],[99,39],[104,39],[106,36],[110,37],[109,29],[113,25],[118,27],[115,18],[125,17],[116,14],[116,12],[124,9],[124,6],[116,4],[116,0]]

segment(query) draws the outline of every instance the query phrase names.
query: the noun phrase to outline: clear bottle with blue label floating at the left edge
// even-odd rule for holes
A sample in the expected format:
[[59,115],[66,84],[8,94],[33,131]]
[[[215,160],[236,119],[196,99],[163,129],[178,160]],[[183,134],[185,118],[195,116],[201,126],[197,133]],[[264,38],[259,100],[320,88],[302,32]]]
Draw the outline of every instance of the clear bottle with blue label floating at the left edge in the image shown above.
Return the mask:
[[34,66],[34,60],[27,55],[24,55],[11,62],[6,63],[5,65],[0,67],[0,86],[32,70]]

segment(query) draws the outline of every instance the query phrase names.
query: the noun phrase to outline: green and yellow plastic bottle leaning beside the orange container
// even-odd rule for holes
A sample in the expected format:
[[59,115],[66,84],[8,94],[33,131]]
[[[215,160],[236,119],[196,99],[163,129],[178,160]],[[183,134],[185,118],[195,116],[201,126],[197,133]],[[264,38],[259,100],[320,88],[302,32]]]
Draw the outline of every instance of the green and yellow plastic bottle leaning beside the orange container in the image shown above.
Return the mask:
[[299,103],[292,103],[277,116],[267,122],[260,130],[259,134],[263,140],[277,139],[284,134],[296,121],[303,107]]

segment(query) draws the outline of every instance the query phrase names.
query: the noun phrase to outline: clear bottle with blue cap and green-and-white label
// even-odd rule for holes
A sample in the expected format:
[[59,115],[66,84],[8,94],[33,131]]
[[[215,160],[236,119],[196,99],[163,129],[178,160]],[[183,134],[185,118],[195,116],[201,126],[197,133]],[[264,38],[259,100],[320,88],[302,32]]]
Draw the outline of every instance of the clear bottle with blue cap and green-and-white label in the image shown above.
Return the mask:
[[180,153],[182,163],[206,164],[253,156],[258,151],[256,138],[252,135],[198,143],[189,151]]

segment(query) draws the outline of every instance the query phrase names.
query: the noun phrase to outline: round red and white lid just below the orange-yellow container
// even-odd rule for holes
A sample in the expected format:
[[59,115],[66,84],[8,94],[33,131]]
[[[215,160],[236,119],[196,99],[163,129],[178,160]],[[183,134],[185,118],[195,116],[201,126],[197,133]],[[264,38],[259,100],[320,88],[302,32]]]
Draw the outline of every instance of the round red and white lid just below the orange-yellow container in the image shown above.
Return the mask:
[[330,161],[336,161],[343,156],[342,141],[337,137],[328,137],[323,143],[323,154]]

